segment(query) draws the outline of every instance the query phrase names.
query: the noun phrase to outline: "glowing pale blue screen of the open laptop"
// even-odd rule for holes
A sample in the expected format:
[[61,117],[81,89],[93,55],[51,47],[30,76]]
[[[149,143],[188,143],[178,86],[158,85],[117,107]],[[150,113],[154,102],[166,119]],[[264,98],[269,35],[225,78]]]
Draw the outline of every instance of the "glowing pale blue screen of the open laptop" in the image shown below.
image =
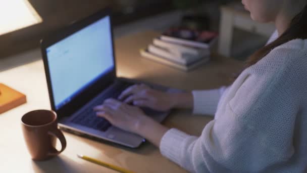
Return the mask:
[[106,16],[46,49],[56,109],[114,69],[110,17]]

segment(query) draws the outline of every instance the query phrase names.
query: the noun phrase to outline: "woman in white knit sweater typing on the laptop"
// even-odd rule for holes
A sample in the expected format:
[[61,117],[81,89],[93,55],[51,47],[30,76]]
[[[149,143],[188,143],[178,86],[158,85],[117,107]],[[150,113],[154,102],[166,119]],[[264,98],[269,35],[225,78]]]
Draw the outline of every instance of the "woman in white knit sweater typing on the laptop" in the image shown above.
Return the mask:
[[[251,18],[277,31],[229,87],[168,94],[134,85],[95,110],[139,134],[192,172],[307,171],[307,2],[243,0]],[[200,137],[169,129],[135,106],[214,114]],[[155,133],[152,133],[152,132]]]

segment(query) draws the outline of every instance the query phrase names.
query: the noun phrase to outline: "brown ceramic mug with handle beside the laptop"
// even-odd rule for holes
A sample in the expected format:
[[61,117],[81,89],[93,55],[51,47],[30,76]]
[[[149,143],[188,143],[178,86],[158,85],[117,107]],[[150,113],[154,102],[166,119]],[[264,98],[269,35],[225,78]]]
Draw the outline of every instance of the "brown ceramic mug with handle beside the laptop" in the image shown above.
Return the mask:
[[[58,129],[57,114],[51,110],[34,110],[21,118],[23,136],[33,160],[46,160],[66,148],[66,140]],[[62,149],[55,148],[58,138]]]

